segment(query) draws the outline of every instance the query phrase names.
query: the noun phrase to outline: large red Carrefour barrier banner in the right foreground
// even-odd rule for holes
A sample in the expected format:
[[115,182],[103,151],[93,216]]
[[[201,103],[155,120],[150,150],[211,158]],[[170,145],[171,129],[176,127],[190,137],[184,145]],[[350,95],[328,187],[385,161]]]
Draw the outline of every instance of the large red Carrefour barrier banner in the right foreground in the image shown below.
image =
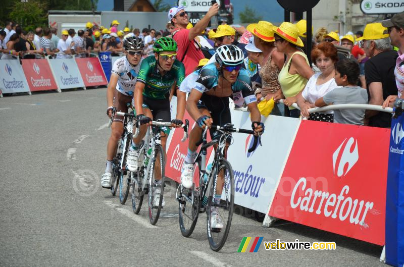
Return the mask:
[[384,245],[390,130],[302,121],[269,215]]

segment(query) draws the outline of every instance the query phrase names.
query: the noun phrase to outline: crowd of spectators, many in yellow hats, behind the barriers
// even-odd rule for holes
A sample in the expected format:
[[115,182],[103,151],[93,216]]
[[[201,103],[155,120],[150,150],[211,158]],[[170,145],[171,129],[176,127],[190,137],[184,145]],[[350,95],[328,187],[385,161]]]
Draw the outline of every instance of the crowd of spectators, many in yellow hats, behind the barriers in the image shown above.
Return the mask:
[[[124,52],[122,39],[143,39],[143,56],[153,55],[154,42],[172,37],[178,45],[177,60],[189,75],[215,60],[215,49],[234,44],[245,55],[245,69],[250,75],[259,101],[274,101],[272,115],[309,120],[349,123],[388,128],[391,115],[371,110],[341,110],[309,114],[309,109],[341,103],[369,103],[392,106],[404,97],[404,13],[382,22],[367,24],[363,31],[340,35],[322,27],[313,35],[311,54],[305,54],[307,24],[283,22],[275,26],[267,21],[247,27],[227,25],[208,28],[219,6],[213,5],[195,25],[189,23],[183,6],[168,13],[164,30],[120,27],[114,20],[110,28],[88,22],[85,29],[36,28],[26,32],[21,25],[7,22],[0,30],[1,59],[87,57],[90,52]],[[311,29],[313,32],[313,28]],[[310,63],[311,59],[312,63]],[[195,74],[193,74],[195,76]],[[192,81],[190,81],[192,82]],[[283,99],[283,103],[280,100]],[[299,109],[294,108],[296,103]]]

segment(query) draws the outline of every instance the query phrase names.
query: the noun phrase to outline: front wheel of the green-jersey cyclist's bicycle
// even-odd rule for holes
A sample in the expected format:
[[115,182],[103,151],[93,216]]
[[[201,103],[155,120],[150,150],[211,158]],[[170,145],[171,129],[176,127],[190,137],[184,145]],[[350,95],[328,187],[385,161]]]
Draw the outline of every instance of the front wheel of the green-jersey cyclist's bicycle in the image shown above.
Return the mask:
[[[159,220],[160,211],[163,203],[163,193],[164,193],[164,152],[161,145],[156,145],[154,162],[150,166],[150,181],[149,181],[149,191],[148,191],[148,218],[152,225],[155,225]],[[156,171],[161,174],[161,181],[156,180]],[[155,203],[155,198],[158,198],[160,194],[160,201]]]

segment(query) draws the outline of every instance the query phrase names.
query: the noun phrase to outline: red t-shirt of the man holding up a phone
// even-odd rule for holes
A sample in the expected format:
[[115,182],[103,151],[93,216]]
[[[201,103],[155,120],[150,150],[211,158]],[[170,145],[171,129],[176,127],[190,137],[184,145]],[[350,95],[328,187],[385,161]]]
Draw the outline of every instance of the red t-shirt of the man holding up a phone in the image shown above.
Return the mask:
[[[205,58],[203,52],[199,48],[199,44],[196,40],[190,41],[188,38],[188,29],[177,29],[174,33],[173,39],[177,42],[177,60],[181,61],[185,66],[185,76],[192,73],[198,66],[199,60]],[[187,49],[185,57],[184,53]]]

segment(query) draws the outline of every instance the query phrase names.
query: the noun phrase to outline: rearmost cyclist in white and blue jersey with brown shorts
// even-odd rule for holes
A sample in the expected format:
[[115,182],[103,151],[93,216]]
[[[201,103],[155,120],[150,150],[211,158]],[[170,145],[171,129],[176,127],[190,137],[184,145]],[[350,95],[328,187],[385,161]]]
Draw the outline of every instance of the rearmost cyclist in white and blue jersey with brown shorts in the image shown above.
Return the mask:
[[[111,118],[112,109],[118,112],[128,112],[128,103],[133,98],[133,89],[142,62],[143,41],[134,36],[128,36],[123,40],[125,56],[115,61],[111,71],[110,83],[107,89],[107,115]],[[123,133],[123,117],[114,116],[111,125],[111,137],[107,146],[107,168],[101,178],[101,186],[111,188],[112,161],[114,159],[118,140]]]

